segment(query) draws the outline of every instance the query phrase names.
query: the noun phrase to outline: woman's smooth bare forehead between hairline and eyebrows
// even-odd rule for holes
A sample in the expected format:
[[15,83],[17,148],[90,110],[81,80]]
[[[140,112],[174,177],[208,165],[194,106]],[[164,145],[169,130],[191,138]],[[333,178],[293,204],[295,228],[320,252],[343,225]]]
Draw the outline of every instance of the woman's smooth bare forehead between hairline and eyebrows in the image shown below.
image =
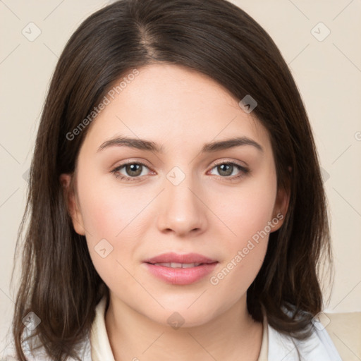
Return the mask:
[[[115,135],[140,137],[170,147],[194,147],[245,136],[270,147],[267,130],[246,114],[231,92],[212,78],[183,66],[152,64],[138,69],[109,99],[91,124],[87,142],[100,145]],[[115,94],[114,94],[115,93]],[[107,93],[109,94],[109,92]]]

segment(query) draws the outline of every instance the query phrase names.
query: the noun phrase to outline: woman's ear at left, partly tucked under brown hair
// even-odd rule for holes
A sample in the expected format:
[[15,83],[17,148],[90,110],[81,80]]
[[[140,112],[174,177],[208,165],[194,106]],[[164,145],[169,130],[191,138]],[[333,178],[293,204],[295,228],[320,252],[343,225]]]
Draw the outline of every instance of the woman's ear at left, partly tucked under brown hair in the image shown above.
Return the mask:
[[68,208],[68,213],[71,216],[73,221],[73,227],[76,233],[80,235],[85,235],[85,228],[82,221],[82,214],[80,212],[80,207],[75,195],[75,190],[71,182],[72,175],[63,173],[60,176],[60,183],[63,187],[64,199],[66,200],[66,206]]

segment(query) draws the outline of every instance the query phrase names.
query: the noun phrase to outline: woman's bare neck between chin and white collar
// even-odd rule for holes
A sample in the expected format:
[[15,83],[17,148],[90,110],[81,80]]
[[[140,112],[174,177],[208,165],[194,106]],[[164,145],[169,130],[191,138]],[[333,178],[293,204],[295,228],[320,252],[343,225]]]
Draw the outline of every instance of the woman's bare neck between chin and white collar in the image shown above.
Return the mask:
[[173,329],[111,297],[105,324],[116,361],[164,355],[173,361],[257,361],[262,343],[262,323],[250,317],[245,298],[206,324]]

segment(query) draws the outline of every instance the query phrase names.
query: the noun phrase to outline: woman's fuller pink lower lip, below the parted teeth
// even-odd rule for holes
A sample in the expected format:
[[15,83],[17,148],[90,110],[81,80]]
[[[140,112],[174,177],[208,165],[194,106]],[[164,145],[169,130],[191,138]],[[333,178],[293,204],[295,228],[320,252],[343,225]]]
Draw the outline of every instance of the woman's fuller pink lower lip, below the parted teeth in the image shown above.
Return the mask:
[[155,266],[154,264],[145,263],[151,274],[159,279],[171,283],[173,285],[189,285],[203,279],[210,274],[218,262],[210,264],[202,264],[197,267],[190,268],[171,268],[164,266]]

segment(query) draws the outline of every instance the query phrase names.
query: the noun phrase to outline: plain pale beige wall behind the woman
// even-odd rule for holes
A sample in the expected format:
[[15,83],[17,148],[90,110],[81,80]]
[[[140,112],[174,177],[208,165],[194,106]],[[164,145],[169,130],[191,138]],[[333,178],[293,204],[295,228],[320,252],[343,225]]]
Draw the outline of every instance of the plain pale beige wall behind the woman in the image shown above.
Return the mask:
[[[334,288],[326,310],[360,312],[361,1],[233,3],[255,18],[279,46],[310,116],[324,169],[335,258]],[[15,293],[9,281],[25,207],[26,171],[49,79],[71,34],[106,4],[0,1],[0,355],[13,312]],[[324,25],[317,25],[320,22]],[[31,42],[27,37],[36,35],[37,27],[41,34]],[[322,39],[327,29],[330,34]]]

